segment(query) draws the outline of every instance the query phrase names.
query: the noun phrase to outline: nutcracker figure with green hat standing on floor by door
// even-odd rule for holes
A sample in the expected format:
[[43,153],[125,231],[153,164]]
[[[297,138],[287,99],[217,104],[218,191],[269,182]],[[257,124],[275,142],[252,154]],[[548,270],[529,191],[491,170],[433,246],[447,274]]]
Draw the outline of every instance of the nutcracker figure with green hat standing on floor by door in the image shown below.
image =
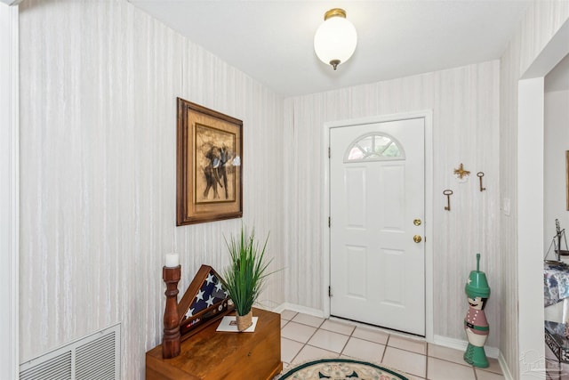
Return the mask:
[[464,319],[464,329],[469,338],[469,346],[464,352],[464,360],[479,368],[490,364],[486,359],[484,344],[490,332],[485,315],[486,300],[490,296],[490,287],[483,271],[480,271],[480,254],[477,254],[477,270],[470,271],[466,283],[466,295],[469,296],[469,312]]

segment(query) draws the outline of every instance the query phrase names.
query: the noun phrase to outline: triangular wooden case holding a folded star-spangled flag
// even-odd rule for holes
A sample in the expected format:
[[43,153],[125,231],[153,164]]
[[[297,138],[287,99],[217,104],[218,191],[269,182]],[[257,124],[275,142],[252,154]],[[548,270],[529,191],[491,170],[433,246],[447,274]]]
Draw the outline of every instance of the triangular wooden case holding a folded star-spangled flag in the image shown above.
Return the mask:
[[209,265],[202,265],[178,303],[181,340],[193,336],[233,311],[228,295],[221,287],[220,275]]

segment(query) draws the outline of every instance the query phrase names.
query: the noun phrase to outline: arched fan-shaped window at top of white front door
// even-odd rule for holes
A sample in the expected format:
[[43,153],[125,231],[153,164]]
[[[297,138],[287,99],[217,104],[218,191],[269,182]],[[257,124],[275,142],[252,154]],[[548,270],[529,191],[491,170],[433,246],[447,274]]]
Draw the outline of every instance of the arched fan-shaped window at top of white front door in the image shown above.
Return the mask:
[[344,162],[390,161],[405,159],[405,150],[389,134],[367,133],[352,142],[344,154]]

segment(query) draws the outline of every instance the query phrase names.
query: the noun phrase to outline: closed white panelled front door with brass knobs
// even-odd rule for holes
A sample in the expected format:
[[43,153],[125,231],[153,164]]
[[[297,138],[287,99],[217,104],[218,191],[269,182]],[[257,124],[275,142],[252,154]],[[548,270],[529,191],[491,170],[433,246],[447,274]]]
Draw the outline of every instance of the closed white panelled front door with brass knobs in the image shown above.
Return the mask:
[[425,336],[424,118],[330,130],[331,315]]

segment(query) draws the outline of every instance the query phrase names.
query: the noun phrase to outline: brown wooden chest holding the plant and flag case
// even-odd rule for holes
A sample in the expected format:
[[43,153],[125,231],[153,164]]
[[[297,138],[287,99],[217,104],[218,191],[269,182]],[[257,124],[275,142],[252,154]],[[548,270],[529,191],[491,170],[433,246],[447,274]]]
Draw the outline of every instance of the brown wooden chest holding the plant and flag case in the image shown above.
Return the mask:
[[217,332],[205,327],[181,343],[180,356],[162,358],[162,344],[146,353],[147,380],[269,380],[283,369],[281,318],[254,309],[259,317],[253,333]]

